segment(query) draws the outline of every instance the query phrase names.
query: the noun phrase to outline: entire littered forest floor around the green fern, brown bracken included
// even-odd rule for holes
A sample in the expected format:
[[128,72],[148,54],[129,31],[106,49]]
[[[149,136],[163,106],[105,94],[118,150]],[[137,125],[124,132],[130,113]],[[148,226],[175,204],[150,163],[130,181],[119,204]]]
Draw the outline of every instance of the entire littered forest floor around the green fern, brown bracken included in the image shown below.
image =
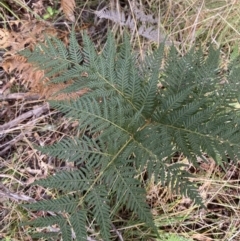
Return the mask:
[[[62,87],[46,90],[40,83],[41,73],[33,75],[32,66],[17,51],[33,48],[44,41],[45,34],[67,42],[72,28],[76,33],[86,31],[101,47],[108,29],[120,41],[128,28],[133,48],[143,55],[164,39],[167,45],[177,46],[182,55],[194,46],[207,51],[212,43],[221,48],[223,67],[239,55],[240,2],[236,0],[142,0],[136,6],[127,0],[74,2],[0,2],[0,240],[32,240],[30,228],[20,224],[43,214],[27,211],[19,204],[57,196],[55,190],[30,184],[57,170],[71,168],[63,160],[36,151],[34,145],[52,144],[77,131],[75,122],[69,122],[47,104],[52,92]],[[100,11],[104,8],[112,15],[106,17],[106,12]],[[147,18],[139,17],[136,9]],[[119,11],[126,19],[130,16],[134,20],[134,29],[119,24]],[[199,209],[188,198],[150,183],[146,198],[158,229],[172,235],[167,235],[166,240],[239,241],[240,164],[230,161],[223,170],[209,158],[198,169],[189,166],[189,171],[199,183],[207,208]],[[157,240],[141,225],[133,228],[129,224],[119,230],[124,231],[124,240]]]

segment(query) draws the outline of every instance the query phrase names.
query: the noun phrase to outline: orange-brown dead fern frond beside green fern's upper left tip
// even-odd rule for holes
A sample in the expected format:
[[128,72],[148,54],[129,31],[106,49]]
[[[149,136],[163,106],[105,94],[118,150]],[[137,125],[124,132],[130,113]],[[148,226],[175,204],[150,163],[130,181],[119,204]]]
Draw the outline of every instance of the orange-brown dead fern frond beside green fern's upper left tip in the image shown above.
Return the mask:
[[44,42],[46,35],[57,37],[65,44],[68,43],[68,33],[56,30],[45,22],[13,21],[10,24],[10,30],[0,29],[0,48],[7,48],[1,67],[8,74],[15,73],[15,78],[28,89],[30,95],[39,94],[40,98],[69,100],[85,94],[86,89],[56,95],[71,85],[72,80],[66,83],[49,83],[50,79],[44,77],[43,70],[37,70],[25,57],[18,54],[18,51],[25,48],[33,50],[37,43]]

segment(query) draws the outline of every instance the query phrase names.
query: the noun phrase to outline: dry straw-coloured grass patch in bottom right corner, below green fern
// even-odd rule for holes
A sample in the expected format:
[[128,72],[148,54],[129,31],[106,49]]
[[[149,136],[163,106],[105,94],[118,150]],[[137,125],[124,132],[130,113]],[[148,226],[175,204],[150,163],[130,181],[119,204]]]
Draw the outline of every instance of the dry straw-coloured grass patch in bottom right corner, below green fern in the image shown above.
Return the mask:
[[199,184],[207,208],[198,209],[188,198],[170,196],[169,191],[152,186],[149,195],[155,194],[152,211],[157,226],[194,240],[239,240],[240,167],[232,164],[224,172],[202,163],[195,171],[193,181]]

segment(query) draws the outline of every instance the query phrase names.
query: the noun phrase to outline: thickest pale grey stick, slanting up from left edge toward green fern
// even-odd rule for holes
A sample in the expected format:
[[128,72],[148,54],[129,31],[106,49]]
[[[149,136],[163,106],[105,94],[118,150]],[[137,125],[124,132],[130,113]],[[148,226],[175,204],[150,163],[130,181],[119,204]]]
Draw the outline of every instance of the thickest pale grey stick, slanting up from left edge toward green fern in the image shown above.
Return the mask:
[[18,116],[14,120],[9,121],[8,123],[1,125],[0,126],[0,136],[6,134],[7,130],[9,130],[10,128],[13,128],[14,126],[17,126],[19,123],[28,119],[29,117],[31,117],[31,116],[38,117],[48,110],[49,110],[49,104],[46,103],[43,106],[40,106],[40,107],[38,107],[36,109],[33,109],[33,110],[30,110],[30,111]]

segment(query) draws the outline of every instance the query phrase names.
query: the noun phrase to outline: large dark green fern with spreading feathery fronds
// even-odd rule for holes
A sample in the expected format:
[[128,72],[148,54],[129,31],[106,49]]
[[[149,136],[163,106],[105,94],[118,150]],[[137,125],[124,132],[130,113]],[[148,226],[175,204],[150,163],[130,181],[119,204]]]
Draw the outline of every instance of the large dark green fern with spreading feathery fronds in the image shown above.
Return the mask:
[[239,110],[234,107],[240,68],[233,64],[224,72],[213,48],[207,57],[201,50],[180,57],[174,47],[166,52],[162,44],[140,61],[127,34],[119,47],[109,34],[99,53],[86,34],[81,49],[72,33],[67,47],[47,38],[46,44],[22,55],[54,83],[71,79],[64,92],[88,90],[71,101],[50,102],[78,120],[80,133],[88,135],[38,148],[80,168],[35,182],[65,195],[26,205],[51,213],[27,224],[58,224],[64,241],[83,241],[91,223],[107,241],[124,207],[155,230],[141,173],[202,205],[191,175],[172,157],[183,153],[197,165],[198,157],[211,156],[222,165],[240,156]]

